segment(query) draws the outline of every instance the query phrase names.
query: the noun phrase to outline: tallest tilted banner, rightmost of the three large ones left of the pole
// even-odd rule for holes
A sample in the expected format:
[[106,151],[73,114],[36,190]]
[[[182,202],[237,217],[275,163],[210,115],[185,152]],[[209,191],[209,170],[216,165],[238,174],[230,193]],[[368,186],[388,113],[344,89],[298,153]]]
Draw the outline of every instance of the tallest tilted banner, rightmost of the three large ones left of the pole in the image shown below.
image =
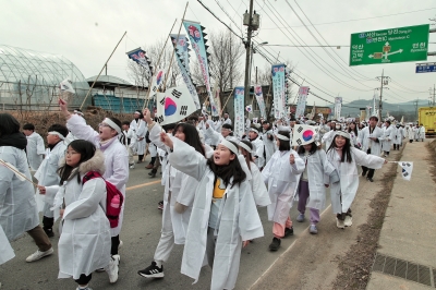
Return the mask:
[[207,63],[207,52],[206,52],[206,40],[204,39],[205,34],[203,33],[204,27],[199,25],[199,23],[183,21],[184,28],[186,29],[192,48],[197,56],[199,69],[203,74],[203,81],[206,86],[207,95],[209,96],[211,116],[219,116],[218,108],[214,101],[214,96],[210,90],[210,76],[209,76],[209,68]]

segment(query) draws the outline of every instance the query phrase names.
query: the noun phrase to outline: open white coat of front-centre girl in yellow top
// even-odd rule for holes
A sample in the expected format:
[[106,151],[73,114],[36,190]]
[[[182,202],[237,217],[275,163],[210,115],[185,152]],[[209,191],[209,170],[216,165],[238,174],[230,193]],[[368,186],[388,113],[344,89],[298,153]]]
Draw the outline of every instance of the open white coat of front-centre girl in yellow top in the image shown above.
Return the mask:
[[[171,166],[199,181],[186,241],[183,250],[182,274],[198,280],[206,256],[206,240],[214,191],[215,174],[203,155],[184,142],[173,140],[173,153],[168,157]],[[250,182],[227,186],[219,210],[219,229],[211,274],[213,290],[233,289],[239,273],[242,241],[264,235],[261,218],[251,193]]]

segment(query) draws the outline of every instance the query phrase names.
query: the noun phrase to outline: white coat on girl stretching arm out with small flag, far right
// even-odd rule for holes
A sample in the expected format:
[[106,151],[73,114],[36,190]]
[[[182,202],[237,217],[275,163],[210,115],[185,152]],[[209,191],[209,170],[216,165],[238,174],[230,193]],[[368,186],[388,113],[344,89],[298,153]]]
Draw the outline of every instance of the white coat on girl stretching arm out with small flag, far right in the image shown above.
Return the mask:
[[335,148],[327,152],[327,160],[339,173],[339,182],[330,184],[331,209],[334,214],[347,213],[354,201],[359,189],[358,165],[379,169],[385,162],[385,159],[373,154],[366,154],[354,147],[351,147],[351,162],[341,162],[339,154]]

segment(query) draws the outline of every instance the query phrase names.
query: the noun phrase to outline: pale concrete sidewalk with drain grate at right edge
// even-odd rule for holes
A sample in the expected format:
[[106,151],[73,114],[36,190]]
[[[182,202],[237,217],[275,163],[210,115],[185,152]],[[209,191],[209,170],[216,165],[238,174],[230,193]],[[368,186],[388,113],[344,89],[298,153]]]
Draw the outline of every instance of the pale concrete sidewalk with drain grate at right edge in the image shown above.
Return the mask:
[[435,287],[436,169],[429,159],[436,153],[431,156],[427,143],[408,143],[403,150],[401,160],[413,161],[412,179],[395,180],[368,290]]

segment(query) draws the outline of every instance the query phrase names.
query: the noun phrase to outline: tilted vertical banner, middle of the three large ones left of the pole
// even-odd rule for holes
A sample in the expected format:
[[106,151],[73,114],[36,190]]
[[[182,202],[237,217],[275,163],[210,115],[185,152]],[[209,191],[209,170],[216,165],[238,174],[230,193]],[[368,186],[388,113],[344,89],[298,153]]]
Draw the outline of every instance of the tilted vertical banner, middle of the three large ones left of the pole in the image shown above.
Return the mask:
[[[172,45],[175,46],[175,59],[180,69],[180,73],[182,74],[183,82],[190,90],[191,97],[194,100],[195,108],[198,110],[202,108],[199,105],[198,94],[195,88],[194,83],[192,82],[191,73],[190,73],[190,56],[187,55],[187,41],[184,35],[171,34]],[[175,40],[178,39],[178,40]]]

